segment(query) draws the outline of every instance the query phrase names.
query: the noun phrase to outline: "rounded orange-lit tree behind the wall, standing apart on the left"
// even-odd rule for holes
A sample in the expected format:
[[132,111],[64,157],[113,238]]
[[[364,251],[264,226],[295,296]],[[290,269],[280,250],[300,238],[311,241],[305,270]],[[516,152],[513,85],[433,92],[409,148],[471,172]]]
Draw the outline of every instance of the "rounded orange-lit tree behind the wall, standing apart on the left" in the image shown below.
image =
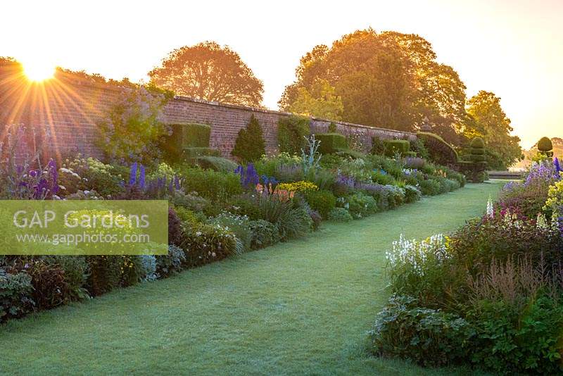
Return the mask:
[[179,95],[241,106],[260,106],[264,92],[239,54],[215,42],[175,49],[148,76]]

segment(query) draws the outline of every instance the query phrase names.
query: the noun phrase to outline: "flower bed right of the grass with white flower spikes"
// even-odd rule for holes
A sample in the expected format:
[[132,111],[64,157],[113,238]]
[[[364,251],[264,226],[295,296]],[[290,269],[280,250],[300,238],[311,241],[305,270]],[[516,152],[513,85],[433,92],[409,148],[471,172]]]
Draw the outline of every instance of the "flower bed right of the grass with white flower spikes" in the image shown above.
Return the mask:
[[420,365],[563,372],[563,173],[533,165],[449,237],[388,252],[391,299],[371,351]]

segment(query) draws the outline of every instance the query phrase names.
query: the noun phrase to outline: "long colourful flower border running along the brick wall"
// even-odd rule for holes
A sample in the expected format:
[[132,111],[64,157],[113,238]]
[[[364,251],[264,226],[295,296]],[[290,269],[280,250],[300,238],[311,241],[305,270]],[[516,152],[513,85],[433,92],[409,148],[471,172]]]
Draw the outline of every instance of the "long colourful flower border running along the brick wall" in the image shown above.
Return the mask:
[[170,244],[165,256],[0,256],[0,321],[303,237],[323,220],[363,218],[465,182],[422,158],[281,153],[224,172],[79,155],[42,168],[39,155],[17,163],[6,146],[0,199],[165,199]]

